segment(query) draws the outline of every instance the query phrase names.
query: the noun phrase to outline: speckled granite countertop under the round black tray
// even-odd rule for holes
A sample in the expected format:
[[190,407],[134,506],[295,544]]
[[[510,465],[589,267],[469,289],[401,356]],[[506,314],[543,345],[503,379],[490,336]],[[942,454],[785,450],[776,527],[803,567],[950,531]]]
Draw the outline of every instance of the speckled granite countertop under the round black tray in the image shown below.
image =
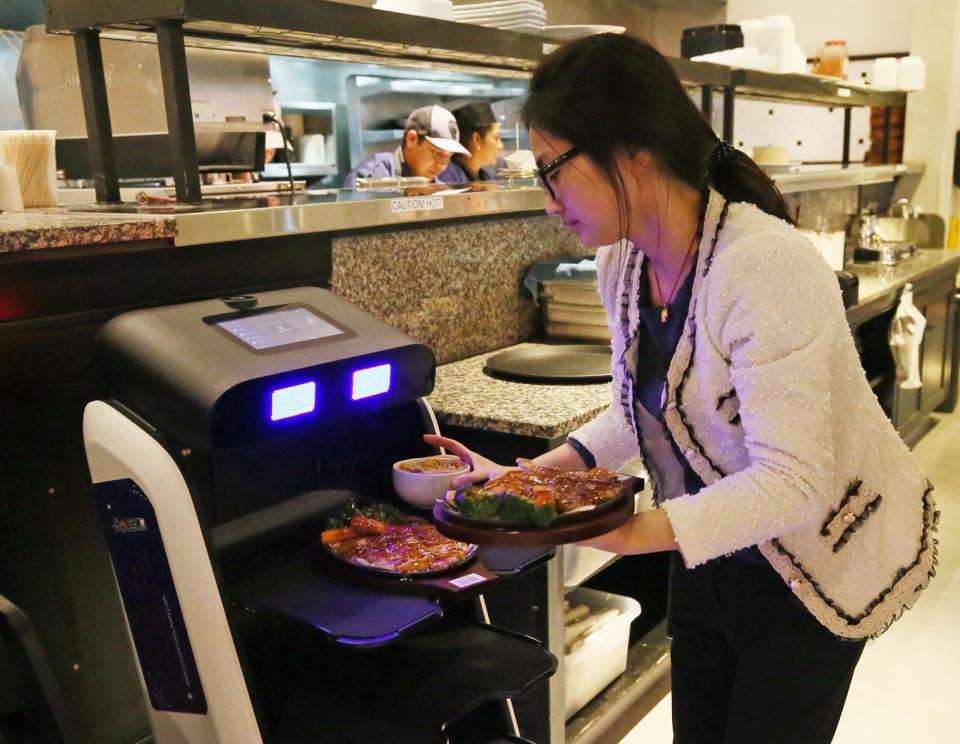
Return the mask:
[[[511,349],[537,347],[524,343]],[[503,351],[500,349],[499,351]],[[582,426],[610,404],[610,385],[510,382],[483,372],[487,352],[437,367],[429,397],[441,424],[554,439]]]

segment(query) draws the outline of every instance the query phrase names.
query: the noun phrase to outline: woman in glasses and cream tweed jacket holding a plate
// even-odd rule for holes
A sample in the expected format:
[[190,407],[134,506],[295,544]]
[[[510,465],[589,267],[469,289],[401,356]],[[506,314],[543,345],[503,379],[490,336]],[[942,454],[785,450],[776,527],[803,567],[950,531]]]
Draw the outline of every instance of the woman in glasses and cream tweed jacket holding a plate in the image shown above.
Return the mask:
[[[674,741],[829,742],[865,639],[936,563],[931,487],[860,366],[833,273],[667,61],[603,34],[524,107],[547,212],[597,251],[610,407],[537,462],[635,455],[658,508],[587,544],[675,551]],[[470,460],[479,480],[503,466]]]

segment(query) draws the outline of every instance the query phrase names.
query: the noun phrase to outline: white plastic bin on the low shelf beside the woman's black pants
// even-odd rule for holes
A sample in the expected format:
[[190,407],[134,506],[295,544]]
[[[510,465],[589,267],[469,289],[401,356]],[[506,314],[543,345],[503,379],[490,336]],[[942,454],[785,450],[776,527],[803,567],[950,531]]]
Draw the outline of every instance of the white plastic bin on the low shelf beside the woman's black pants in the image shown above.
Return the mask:
[[571,606],[585,604],[591,612],[612,607],[620,610],[619,615],[587,636],[580,648],[564,657],[565,708],[569,719],[626,670],[630,623],[640,615],[640,603],[631,597],[583,587],[569,592],[567,599]]

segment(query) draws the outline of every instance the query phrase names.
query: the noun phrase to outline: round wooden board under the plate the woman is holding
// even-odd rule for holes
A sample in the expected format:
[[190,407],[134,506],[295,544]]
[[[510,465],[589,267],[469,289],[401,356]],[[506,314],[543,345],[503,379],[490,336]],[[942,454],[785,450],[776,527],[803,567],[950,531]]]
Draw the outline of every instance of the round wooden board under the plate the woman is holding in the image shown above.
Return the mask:
[[596,515],[547,528],[512,527],[495,522],[480,526],[448,509],[442,501],[433,505],[433,521],[441,534],[454,540],[477,545],[563,545],[602,535],[624,524],[633,516],[633,493],[626,493],[609,509]]

